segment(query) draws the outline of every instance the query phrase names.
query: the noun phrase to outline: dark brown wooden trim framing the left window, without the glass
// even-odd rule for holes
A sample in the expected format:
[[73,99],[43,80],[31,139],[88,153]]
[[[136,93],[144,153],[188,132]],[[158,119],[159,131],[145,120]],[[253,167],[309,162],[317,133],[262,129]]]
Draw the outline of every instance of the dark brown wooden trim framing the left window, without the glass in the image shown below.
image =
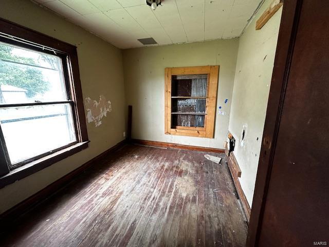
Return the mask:
[[[22,167],[18,167],[12,171],[9,171],[9,165],[7,164],[7,162],[2,162],[0,164],[0,174],[3,175],[3,177],[0,178],[0,185],[5,186],[16,180],[27,177],[27,175],[39,171],[60,160],[63,160],[63,158],[66,158],[67,156],[72,155],[73,153],[79,152],[82,149],[87,148],[89,140],[83,105],[77,47],[47,36],[38,31],[34,31],[32,29],[26,28],[24,26],[15,24],[13,22],[1,18],[0,31],[4,34],[7,34],[8,37],[18,38],[12,39],[0,37],[1,41],[3,42],[49,54],[53,54],[53,52],[56,52],[56,54],[61,57],[62,63],[64,65],[63,73],[65,75],[65,83],[69,89],[70,96],[67,102],[72,103],[74,101],[74,107],[72,107],[72,112],[74,114],[72,115],[74,118],[75,130],[77,133],[77,142],[72,143],[70,147],[62,147],[61,150],[56,150],[56,152],[47,156],[45,154],[44,157],[40,159],[39,157],[35,157],[35,160],[32,160],[30,163]],[[3,150],[0,151],[5,152]],[[0,156],[0,160],[3,161],[4,158]],[[24,170],[23,168],[26,169]]]

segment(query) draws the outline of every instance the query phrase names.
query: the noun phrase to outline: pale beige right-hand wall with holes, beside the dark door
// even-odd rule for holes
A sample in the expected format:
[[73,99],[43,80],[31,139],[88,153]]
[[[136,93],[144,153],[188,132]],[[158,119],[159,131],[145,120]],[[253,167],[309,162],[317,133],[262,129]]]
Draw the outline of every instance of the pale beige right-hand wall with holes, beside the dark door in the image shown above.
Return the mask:
[[[251,206],[262,142],[268,94],[282,8],[263,26],[255,22],[269,6],[266,0],[239,41],[229,131],[236,139],[234,155],[242,171],[240,183]],[[247,126],[241,146],[243,126]]]

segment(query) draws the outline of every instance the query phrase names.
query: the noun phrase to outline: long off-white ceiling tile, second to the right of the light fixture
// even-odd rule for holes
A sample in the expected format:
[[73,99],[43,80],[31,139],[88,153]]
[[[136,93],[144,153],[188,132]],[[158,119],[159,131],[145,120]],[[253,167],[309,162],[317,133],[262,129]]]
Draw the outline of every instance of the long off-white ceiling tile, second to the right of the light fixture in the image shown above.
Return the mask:
[[204,41],[205,1],[176,0],[176,4],[188,42]]

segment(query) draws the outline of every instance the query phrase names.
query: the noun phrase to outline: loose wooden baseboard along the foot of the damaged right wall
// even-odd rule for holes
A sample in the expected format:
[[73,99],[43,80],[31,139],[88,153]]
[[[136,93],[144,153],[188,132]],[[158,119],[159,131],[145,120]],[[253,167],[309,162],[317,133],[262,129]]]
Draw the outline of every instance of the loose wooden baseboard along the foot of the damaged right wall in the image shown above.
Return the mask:
[[[236,164],[233,164],[234,162]],[[233,183],[234,183],[234,186],[235,186],[235,189],[237,192],[237,196],[239,196],[247,222],[249,223],[251,209],[250,209],[249,203],[247,201],[246,195],[242,190],[242,187],[241,187],[241,184],[240,184],[240,181],[238,178],[239,171],[237,170],[236,166],[239,167],[239,165],[237,165],[233,152],[230,152],[230,155],[227,156],[227,164],[228,164],[228,168],[230,170],[230,173],[231,173],[231,176],[233,179]],[[239,170],[240,170],[240,168],[239,168]],[[241,170],[240,170],[240,176],[241,176]]]

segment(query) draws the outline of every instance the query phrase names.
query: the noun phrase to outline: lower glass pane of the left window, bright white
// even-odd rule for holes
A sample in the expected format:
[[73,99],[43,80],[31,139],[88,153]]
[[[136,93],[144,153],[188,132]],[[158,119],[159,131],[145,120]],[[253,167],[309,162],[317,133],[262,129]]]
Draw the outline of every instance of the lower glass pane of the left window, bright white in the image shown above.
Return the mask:
[[0,108],[0,123],[12,164],[76,141],[68,103]]

